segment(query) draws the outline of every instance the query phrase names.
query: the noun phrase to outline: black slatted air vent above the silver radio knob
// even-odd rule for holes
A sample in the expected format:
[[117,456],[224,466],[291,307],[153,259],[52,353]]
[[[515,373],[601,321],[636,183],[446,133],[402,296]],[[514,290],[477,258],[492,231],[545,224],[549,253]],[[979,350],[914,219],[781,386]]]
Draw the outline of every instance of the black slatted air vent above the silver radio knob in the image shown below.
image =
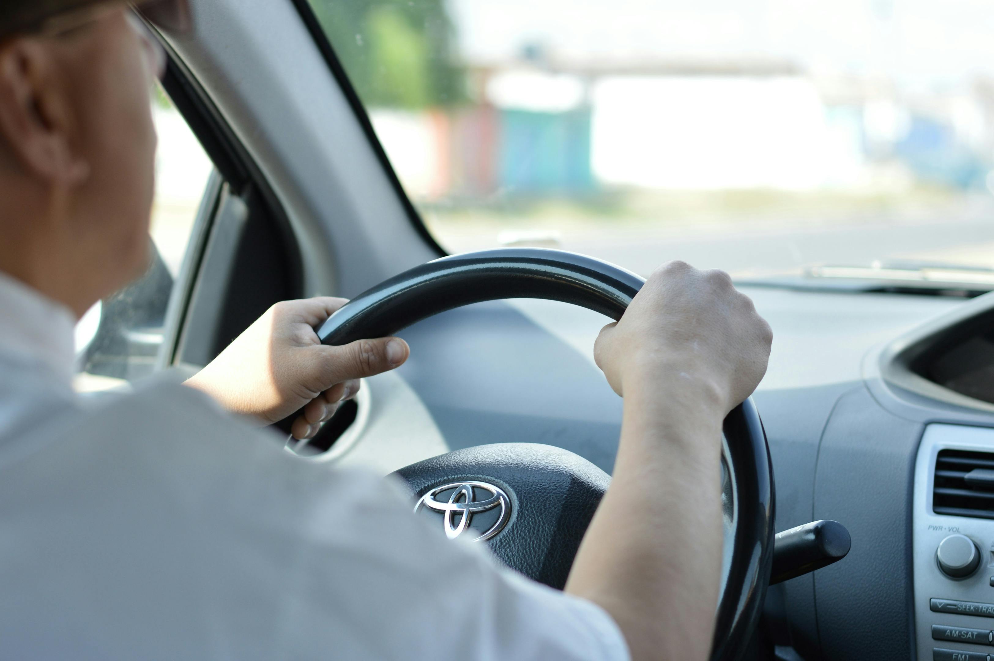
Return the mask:
[[935,461],[935,514],[994,519],[994,453],[942,450]]

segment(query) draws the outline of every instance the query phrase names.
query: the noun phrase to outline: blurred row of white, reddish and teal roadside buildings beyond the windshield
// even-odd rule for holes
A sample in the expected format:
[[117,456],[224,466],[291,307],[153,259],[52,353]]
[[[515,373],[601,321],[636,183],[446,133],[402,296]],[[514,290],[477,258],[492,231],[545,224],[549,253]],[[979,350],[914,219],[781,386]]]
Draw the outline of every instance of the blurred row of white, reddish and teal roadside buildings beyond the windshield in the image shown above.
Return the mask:
[[789,62],[551,62],[467,68],[469,102],[373,110],[421,201],[610,189],[985,185],[994,86],[914,97]]

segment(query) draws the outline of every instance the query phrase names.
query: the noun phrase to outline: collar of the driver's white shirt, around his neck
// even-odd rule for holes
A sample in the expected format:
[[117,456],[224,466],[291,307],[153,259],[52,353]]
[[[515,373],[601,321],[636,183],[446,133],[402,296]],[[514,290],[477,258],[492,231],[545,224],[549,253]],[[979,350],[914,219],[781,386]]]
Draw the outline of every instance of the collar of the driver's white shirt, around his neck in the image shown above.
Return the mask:
[[30,363],[46,378],[72,388],[76,372],[76,316],[0,271],[0,354]]

